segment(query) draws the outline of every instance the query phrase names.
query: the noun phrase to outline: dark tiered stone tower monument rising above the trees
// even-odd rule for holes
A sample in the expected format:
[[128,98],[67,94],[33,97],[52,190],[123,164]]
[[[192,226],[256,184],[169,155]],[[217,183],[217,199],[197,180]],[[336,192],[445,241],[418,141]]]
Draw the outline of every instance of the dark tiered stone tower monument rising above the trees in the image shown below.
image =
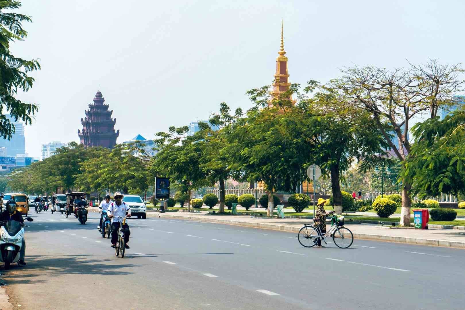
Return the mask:
[[104,104],[105,98],[98,91],[93,99],[93,104],[89,104],[86,110],[86,117],[81,118],[82,132],[78,129],[78,136],[81,144],[85,147],[103,146],[113,148],[116,145],[116,138],[120,131],[114,130],[116,119],[112,119],[112,111],[108,111],[108,105]]

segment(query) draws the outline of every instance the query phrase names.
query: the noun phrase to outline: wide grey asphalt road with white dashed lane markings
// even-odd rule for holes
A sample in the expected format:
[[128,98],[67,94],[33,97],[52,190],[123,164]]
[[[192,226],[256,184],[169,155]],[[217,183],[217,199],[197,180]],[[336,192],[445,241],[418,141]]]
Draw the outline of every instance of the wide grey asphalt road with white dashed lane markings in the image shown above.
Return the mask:
[[0,267],[16,309],[463,309],[464,250],[135,218],[121,259],[89,215],[32,214],[27,266]]

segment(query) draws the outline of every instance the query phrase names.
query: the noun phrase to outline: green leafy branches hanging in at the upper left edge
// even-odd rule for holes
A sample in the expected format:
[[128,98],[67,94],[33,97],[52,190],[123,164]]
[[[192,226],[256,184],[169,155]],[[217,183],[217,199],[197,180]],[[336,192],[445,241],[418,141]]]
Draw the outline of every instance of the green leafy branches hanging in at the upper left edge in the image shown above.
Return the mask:
[[[32,21],[24,14],[8,10],[21,7],[20,1],[0,1],[0,137],[10,139],[14,133],[14,125],[7,118],[9,113],[17,121],[23,120],[31,124],[31,116],[37,112],[37,106],[24,103],[15,98],[18,90],[27,92],[33,86],[34,78],[27,73],[40,69],[37,60],[25,60],[10,53],[10,44],[15,40],[24,40],[27,31],[23,29],[24,21]],[[5,12],[8,11],[8,12]]]

